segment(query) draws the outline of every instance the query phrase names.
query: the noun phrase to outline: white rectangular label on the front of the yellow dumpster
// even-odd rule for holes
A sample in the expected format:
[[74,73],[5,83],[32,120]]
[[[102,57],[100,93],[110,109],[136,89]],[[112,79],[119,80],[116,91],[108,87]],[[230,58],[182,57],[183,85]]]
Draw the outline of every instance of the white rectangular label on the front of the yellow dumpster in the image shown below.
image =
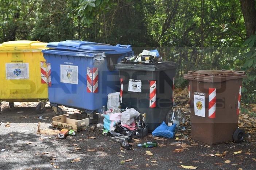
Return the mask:
[[5,63],[7,80],[29,79],[28,63]]

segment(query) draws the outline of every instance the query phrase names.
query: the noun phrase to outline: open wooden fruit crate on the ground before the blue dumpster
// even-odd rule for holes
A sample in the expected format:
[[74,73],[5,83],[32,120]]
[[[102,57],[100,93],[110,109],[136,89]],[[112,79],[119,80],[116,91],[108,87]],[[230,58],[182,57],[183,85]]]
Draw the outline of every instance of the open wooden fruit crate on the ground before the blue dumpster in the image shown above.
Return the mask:
[[73,129],[75,132],[84,130],[89,125],[89,118],[76,120],[67,118],[66,114],[53,117],[53,127],[59,129]]

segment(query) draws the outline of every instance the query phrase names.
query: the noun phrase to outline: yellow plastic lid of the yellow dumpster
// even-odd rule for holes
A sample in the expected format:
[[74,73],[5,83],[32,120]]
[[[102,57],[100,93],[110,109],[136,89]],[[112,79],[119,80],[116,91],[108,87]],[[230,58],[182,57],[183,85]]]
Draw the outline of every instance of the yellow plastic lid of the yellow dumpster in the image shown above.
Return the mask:
[[7,41],[1,44],[1,49],[48,49],[46,48],[47,43],[42,43],[40,41],[30,41],[30,40],[19,40],[19,41]]

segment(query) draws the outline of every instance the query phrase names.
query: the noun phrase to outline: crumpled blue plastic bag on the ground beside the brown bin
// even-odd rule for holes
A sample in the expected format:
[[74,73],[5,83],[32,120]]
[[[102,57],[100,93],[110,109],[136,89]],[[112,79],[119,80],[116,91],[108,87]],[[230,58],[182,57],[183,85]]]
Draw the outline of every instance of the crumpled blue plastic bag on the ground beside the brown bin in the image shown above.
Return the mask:
[[154,131],[152,131],[152,136],[154,137],[166,137],[166,138],[174,138],[175,135],[176,124],[172,124],[172,126],[167,126],[165,122],[160,124]]

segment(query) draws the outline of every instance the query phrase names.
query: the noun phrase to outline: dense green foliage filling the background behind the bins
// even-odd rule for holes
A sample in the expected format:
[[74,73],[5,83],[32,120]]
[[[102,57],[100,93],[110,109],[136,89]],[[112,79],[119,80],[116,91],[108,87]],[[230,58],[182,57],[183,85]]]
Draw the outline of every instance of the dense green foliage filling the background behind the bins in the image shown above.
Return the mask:
[[[158,49],[189,70],[243,70],[243,102],[256,103],[256,35],[247,39],[240,2],[187,0],[1,0],[0,43],[86,40]],[[247,40],[246,40],[247,39]],[[246,41],[245,41],[246,40]]]

